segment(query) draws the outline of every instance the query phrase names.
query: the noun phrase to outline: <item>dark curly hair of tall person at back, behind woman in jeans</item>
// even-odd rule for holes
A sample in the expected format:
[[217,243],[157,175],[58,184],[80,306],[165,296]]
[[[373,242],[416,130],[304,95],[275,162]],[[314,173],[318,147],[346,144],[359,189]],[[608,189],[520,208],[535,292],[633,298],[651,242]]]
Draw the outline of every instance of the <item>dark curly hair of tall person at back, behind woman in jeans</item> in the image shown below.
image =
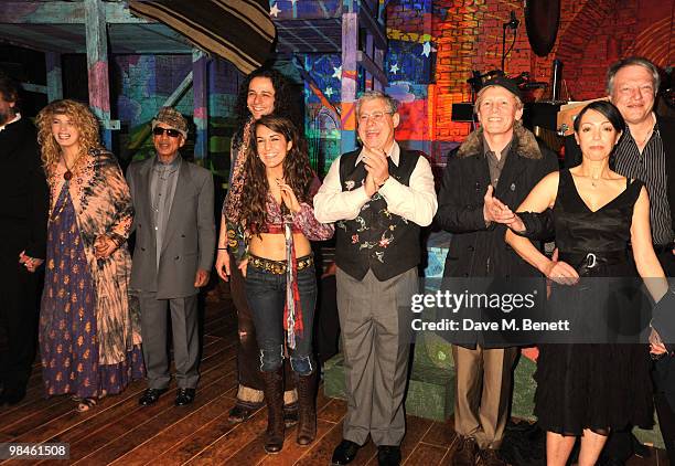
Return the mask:
[[[248,97],[248,85],[256,77],[267,77],[272,83],[275,88],[275,115],[280,115],[290,120],[298,127],[301,125],[301,116],[299,106],[293,99],[293,88],[291,82],[277,70],[270,67],[260,67],[250,73],[242,85],[239,86],[239,94],[237,94],[237,102],[235,104],[235,110],[237,113],[237,134],[235,138],[240,139],[244,126],[250,118],[251,114],[246,105]],[[297,97],[297,96],[296,96]]]

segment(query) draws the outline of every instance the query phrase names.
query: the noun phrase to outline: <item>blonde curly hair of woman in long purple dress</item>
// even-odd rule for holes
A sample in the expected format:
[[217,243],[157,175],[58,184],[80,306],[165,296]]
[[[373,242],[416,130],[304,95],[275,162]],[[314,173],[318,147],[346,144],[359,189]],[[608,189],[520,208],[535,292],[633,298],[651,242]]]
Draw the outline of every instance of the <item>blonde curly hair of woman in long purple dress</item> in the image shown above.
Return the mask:
[[[101,148],[98,136],[98,120],[89,107],[71,99],[54,100],[40,110],[35,119],[38,125],[38,142],[42,152],[42,165],[47,172],[54,170],[62,153],[61,146],[58,146],[52,134],[52,121],[55,115],[65,115],[71,118],[79,131],[77,140],[79,156]],[[82,160],[82,157],[78,159]]]

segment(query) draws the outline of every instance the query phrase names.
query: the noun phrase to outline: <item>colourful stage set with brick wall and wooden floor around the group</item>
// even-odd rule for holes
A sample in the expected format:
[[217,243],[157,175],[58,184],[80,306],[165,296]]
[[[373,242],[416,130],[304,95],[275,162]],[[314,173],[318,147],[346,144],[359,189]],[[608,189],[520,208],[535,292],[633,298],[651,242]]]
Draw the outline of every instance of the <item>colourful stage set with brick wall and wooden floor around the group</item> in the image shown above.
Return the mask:
[[[227,190],[239,85],[265,62],[302,96],[298,105],[320,176],[356,147],[354,104],[367,89],[399,102],[396,139],[429,156],[437,186],[448,152],[475,127],[476,91],[494,76],[516,81],[526,126],[560,159],[570,103],[604,97],[607,68],[619,59],[642,55],[669,72],[658,112],[675,113],[675,0],[248,0],[234,1],[240,8],[229,17],[218,17],[217,3],[4,0],[0,68],[22,82],[24,115],[58,98],[88,102],[122,166],[153,153],[150,121],[160,107],[190,116],[194,126],[182,152],[214,173],[217,209]],[[428,236],[425,275],[440,277],[451,237]],[[332,250],[323,250],[330,258]],[[244,424],[227,423],[236,325],[225,288],[213,278],[204,293],[194,405],[181,410],[162,400],[140,409],[144,385],[137,381],[82,414],[63,396],[42,398],[35,366],[28,398],[0,407],[0,442],[68,442],[73,464],[328,464],[345,413],[342,356],[324,366],[318,441],[300,448],[287,438],[280,455],[267,456],[265,409]],[[516,368],[512,415],[519,420],[534,420],[536,356],[536,349],[523,350]],[[453,384],[450,345],[422,335],[406,399],[406,464],[450,464]],[[663,447],[657,426],[636,436]],[[369,456],[360,454],[357,464],[375,464],[374,446],[364,452]],[[664,462],[654,448],[630,464]]]

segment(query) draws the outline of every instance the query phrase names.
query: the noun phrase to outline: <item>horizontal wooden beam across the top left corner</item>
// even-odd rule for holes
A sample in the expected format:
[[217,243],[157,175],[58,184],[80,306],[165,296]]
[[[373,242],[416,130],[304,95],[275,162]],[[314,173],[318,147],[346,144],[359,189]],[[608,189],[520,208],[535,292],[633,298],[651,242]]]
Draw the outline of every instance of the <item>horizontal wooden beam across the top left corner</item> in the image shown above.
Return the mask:
[[[131,14],[126,2],[106,2],[105,17],[111,24],[147,24],[154,21]],[[84,1],[3,1],[0,23],[10,24],[84,24]]]

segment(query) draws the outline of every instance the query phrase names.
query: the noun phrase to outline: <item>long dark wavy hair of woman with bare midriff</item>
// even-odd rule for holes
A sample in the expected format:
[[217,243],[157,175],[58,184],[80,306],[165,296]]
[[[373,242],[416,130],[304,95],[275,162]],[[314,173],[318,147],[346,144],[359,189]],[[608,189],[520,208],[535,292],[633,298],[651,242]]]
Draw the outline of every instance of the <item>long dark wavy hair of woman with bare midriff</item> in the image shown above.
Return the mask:
[[[289,118],[266,115],[251,125],[250,145],[244,166],[246,183],[242,192],[239,219],[246,222],[247,229],[254,234],[265,232],[265,224],[267,223],[266,202],[269,192],[265,165],[258,157],[256,145],[258,126],[265,126],[275,133],[279,133],[283,135],[287,141],[292,142],[292,147],[282,162],[283,178],[286,183],[293,189],[299,202],[310,200],[309,191],[314,177],[307,153],[307,141]],[[281,203],[281,212],[288,212],[283,202]]]

